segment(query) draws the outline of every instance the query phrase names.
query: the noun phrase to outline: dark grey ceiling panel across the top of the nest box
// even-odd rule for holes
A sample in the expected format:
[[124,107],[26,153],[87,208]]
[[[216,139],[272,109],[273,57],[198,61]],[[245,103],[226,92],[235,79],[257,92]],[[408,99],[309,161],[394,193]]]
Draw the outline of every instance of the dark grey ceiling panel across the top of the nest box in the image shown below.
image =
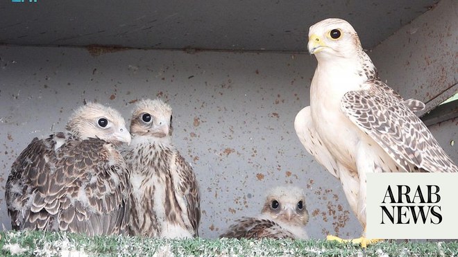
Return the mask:
[[0,44],[305,51],[308,28],[347,19],[373,48],[437,0],[0,3]]

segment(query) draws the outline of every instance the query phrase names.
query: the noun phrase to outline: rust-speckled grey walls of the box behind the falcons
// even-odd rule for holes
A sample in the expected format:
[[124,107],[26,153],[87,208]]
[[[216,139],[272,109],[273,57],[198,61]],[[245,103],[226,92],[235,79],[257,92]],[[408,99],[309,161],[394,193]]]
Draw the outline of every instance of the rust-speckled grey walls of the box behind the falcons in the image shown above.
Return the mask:
[[[458,91],[454,24],[457,4],[443,1],[369,55],[403,96],[431,107],[432,100]],[[201,236],[214,238],[236,218],[259,213],[265,190],[285,184],[305,188],[311,237],[362,231],[339,182],[294,132],[294,117],[309,105],[313,56],[0,46],[0,67],[0,222],[7,229],[4,184],[33,137],[64,130],[84,100],[110,105],[128,121],[135,100],[160,97],[173,108],[173,141],[200,182]],[[457,146],[450,141],[457,140],[457,122],[432,127],[455,161]]]

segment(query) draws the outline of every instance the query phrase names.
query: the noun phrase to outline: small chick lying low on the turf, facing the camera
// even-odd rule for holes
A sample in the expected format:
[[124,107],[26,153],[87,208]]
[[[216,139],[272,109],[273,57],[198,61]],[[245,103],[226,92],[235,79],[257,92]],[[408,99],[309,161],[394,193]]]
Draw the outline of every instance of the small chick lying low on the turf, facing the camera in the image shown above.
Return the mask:
[[303,190],[293,186],[273,188],[256,218],[235,220],[220,238],[291,238],[307,239],[305,225],[309,213]]

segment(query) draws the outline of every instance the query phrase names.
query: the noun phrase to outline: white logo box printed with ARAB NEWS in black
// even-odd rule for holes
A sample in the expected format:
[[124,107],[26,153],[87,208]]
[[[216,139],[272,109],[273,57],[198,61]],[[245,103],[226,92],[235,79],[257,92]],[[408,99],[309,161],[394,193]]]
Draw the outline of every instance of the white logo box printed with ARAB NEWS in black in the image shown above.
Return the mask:
[[366,219],[367,238],[457,239],[458,173],[367,173]]

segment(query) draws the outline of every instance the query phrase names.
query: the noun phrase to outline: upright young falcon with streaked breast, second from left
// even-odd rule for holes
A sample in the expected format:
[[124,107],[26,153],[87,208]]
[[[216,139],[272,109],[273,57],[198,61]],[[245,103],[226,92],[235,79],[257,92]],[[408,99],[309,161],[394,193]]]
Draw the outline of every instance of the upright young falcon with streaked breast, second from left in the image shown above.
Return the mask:
[[124,150],[132,184],[130,233],[162,238],[198,236],[200,195],[192,167],[171,143],[172,109],[162,100],[141,100],[130,121],[132,143]]

